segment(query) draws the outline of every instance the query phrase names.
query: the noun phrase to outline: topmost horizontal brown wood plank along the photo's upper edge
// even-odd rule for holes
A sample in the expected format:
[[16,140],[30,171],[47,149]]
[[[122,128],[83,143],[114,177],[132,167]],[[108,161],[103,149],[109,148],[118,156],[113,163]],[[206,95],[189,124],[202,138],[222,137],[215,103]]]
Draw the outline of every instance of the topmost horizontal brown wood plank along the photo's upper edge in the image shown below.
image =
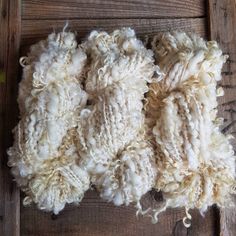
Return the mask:
[[24,0],[23,19],[202,17],[204,0]]

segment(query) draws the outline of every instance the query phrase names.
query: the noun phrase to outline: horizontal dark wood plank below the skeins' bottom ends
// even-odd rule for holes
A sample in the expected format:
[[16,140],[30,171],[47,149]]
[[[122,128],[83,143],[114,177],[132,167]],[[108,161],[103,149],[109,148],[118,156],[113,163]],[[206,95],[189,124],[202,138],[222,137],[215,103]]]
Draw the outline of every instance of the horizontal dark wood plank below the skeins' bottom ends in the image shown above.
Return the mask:
[[115,207],[89,191],[79,207],[66,207],[58,216],[22,206],[21,236],[215,236],[212,209],[205,218],[192,211],[189,229],[183,226],[184,214],[184,209],[168,209],[152,224],[148,217],[136,218],[134,207]]

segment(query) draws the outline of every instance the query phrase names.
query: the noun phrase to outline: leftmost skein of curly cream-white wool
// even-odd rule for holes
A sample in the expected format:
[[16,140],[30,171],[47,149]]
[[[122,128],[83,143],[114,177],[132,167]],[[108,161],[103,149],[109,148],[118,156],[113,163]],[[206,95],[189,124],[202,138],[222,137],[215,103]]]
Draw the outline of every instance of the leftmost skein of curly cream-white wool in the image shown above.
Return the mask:
[[89,188],[86,170],[76,165],[75,134],[87,94],[81,82],[86,54],[73,33],[52,33],[21,59],[21,120],[8,151],[15,180],[26,193],[24,204],[57,214],[79,203]]

